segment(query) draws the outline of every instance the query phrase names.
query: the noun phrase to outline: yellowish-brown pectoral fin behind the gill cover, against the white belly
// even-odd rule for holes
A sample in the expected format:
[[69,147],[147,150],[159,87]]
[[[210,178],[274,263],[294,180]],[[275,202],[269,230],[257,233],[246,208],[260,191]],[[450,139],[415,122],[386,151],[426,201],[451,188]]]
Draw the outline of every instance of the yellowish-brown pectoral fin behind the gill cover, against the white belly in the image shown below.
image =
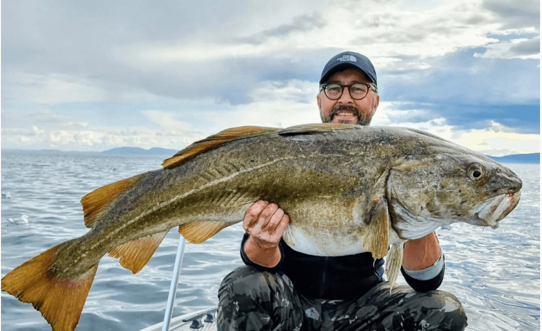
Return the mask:
[[388,253],[390,224],[388,201],[384,198],[378,199],[371,211],[371,218],[363,236],[363,249],[371,252],[374,259],[383,258]]

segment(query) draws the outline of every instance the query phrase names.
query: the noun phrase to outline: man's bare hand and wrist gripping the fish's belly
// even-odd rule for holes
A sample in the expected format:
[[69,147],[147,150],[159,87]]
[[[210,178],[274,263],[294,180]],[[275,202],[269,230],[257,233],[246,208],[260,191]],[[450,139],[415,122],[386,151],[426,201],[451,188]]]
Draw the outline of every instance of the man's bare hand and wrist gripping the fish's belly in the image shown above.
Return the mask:
[[267,201],[256,201],[244,214],[243,228],[250,234],[244,252],[254,263],[272,268],[280,262],[278,247],[290,222],[288,215]]

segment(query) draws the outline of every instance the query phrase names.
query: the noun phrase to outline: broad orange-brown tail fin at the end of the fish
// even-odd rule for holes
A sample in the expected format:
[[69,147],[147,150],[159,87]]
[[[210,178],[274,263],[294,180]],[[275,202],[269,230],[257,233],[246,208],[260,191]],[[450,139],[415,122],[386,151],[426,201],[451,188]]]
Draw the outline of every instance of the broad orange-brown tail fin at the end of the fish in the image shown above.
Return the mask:
[[98,264],[81,275],[57,276],[52,264],[62,243],[28,260],[2,278],[2,290],[34,305],[54,331],[73,331],[91,289]]

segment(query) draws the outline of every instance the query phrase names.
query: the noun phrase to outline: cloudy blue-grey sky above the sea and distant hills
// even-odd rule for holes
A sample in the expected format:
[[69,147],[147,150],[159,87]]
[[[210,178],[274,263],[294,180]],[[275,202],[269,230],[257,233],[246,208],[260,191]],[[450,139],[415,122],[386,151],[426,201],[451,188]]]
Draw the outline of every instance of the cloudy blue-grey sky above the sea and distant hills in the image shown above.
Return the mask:
[[540,151],[538,0],[3,0],[2,148],[182,149],[318,123],[344,50],[376,67],[372,125]]

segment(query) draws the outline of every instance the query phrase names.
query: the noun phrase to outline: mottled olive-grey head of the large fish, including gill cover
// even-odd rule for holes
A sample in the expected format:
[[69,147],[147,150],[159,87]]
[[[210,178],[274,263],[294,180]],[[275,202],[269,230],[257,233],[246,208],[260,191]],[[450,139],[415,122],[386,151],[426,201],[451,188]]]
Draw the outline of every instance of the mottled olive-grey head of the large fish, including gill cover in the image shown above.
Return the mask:
[[457,146],[428,148],[390,170],[392,227],[403,239],[454,222],[495,229],[518,205],[521,186],[512,170],[486,156]]

